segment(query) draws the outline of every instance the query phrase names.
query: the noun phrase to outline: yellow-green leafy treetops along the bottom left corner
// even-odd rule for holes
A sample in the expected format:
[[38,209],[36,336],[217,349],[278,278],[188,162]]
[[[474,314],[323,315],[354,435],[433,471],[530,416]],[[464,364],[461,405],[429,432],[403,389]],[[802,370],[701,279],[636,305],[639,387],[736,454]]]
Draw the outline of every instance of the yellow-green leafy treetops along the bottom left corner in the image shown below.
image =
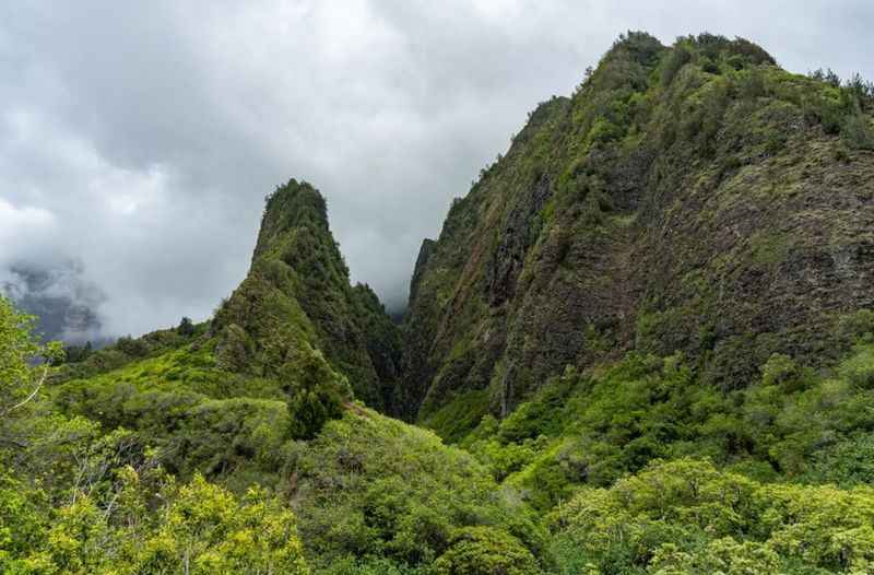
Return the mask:
[[158,493],[125,468],[111,498],[51,508],[33,503],[38,490],[3,482],[3,573],[309,573],[294,515],[257,489],[237,500],[198,476]]

